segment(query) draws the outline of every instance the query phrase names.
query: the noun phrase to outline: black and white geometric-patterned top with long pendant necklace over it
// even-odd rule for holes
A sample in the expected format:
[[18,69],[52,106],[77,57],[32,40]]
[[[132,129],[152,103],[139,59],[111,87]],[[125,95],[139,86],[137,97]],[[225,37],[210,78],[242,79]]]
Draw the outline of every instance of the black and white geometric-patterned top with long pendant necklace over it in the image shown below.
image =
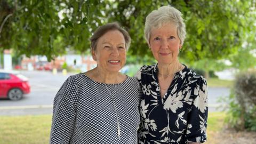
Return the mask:
[[[114,95],[120,140],[106,88]],[[137,143],[139,92],[139,82],[133,77],[119,84],[103,84],[82,73],[70,76],[54,98],[50,143]]]

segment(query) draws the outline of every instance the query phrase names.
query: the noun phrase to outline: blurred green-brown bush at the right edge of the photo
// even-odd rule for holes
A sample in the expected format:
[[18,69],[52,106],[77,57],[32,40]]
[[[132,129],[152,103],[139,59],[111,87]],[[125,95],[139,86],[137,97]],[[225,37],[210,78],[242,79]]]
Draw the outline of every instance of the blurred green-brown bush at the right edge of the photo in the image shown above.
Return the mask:
[[256,131],[256,71],[240,73],[229,95],[226,121],[236,130]]

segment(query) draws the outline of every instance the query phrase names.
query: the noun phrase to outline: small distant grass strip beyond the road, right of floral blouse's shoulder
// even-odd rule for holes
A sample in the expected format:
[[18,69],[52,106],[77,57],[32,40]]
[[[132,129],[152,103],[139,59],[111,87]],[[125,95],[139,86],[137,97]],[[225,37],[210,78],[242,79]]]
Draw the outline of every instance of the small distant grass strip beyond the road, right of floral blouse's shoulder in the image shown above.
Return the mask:
[[234,81],[222,80],[218,78],[206,79],[209,87],[232,87]]

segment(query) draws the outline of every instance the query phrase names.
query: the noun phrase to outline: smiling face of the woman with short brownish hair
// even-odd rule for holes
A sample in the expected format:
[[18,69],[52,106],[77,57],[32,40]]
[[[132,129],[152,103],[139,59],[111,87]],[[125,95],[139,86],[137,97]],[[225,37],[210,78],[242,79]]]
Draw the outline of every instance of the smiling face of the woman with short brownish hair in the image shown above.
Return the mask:
[[118,72],[125,64],[126,49],[123,34],[110,30],[98,39],[92,56],[104,72]]

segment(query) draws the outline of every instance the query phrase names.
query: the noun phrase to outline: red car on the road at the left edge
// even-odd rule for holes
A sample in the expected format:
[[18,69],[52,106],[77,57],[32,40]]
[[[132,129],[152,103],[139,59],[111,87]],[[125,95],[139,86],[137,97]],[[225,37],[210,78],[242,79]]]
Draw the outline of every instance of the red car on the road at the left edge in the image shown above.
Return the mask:
[[0,71],[0,98],[20,100],[30,93],[28,78],[17,71]]

